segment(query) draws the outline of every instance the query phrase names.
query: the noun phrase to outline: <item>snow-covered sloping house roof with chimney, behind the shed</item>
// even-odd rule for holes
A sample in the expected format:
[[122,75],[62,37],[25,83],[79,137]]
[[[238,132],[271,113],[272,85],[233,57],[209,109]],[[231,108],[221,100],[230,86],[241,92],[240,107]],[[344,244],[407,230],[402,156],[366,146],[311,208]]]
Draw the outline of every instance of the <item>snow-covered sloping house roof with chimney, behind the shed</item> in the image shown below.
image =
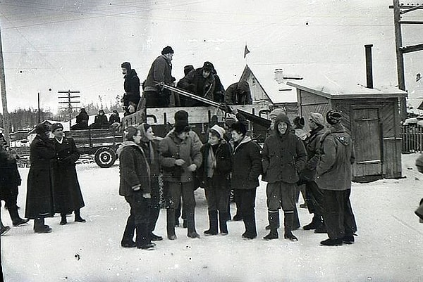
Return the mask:
[[[295,87],[275,80],[275,68],[268,65],[247,65],[257,82],[262,86],[272,103],[297,103],[297,91]],[[291,76],[291,75],[290,75]],[[293,75],[292,75],[293,76]]]

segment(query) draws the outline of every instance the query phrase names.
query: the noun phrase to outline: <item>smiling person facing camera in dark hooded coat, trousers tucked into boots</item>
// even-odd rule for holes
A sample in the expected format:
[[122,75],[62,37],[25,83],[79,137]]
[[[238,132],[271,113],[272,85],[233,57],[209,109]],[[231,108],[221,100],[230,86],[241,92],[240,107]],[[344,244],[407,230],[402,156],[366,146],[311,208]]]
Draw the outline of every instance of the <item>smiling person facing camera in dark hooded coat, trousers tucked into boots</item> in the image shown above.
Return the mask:
[[290,121],[285,114],[279,114],[274,123],[273,134],[266,138],[263,146],[263,181],[267,182],[267,208],[270,233],[265,240],[278,238],[279,209],[284,214],[284,238],[298,241],[292,233],[294,216],[294,193],[307,159],[301,139],[290,131]]

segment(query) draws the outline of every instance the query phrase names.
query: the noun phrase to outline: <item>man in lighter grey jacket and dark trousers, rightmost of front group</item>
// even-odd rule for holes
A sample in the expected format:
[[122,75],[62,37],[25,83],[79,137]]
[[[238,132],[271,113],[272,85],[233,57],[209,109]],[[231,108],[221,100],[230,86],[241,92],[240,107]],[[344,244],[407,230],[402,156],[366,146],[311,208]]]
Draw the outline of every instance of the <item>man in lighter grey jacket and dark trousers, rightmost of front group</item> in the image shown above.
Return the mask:
[[330,127],[320,141],[316,183],[324,194],[324,224],[329,236],[321,245],[352,244],[357,231],[350,203],[351,165],[355,160],[353,141],[341,118],[336,110],[326,114]]

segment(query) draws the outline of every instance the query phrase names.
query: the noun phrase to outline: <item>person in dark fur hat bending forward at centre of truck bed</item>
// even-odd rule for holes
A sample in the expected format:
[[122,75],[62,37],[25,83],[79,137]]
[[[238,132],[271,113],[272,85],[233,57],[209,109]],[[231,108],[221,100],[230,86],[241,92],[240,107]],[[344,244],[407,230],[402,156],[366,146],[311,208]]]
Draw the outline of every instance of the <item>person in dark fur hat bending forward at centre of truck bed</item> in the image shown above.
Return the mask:
[[[204,62],[202,68],[197,68],[188,72],[183,79],[180,79],[178,85],[192,94],[200,97],[214,100],[215,79],[213,75],[214,66],[210,62]],[[186,106],[201,106],[204,103],[198,101],[186,101]]]

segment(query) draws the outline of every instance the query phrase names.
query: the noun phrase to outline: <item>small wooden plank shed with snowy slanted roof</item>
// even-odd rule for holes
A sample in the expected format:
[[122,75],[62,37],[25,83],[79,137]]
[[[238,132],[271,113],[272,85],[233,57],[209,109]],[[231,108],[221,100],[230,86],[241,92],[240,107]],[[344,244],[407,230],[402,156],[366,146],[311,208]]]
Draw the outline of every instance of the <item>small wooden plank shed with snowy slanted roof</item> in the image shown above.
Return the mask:
[[398,98],[407,96],[405,91],[360,85],[348,90],[331,89],[305,82],[288,82],[288,85],[297,89],[302,117],[308,117],[309,113],[321,113],[325,117],[329,110],[338,110],[343,115],[342,123],[353,138],[354,181],[401,177]]

